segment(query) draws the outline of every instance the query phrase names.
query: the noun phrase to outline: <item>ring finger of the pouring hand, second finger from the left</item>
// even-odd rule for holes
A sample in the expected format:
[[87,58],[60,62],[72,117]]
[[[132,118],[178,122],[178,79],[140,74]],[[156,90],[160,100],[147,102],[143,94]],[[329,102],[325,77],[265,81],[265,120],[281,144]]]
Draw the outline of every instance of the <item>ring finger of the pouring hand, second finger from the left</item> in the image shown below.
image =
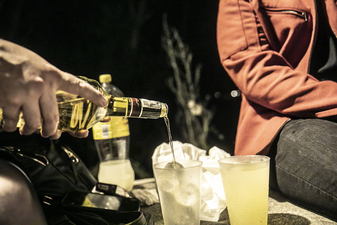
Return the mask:
[[20,128],[20,134],[31,135],[41,126],[41,114],[38,101],[33,99],[22,106],[25,124]]

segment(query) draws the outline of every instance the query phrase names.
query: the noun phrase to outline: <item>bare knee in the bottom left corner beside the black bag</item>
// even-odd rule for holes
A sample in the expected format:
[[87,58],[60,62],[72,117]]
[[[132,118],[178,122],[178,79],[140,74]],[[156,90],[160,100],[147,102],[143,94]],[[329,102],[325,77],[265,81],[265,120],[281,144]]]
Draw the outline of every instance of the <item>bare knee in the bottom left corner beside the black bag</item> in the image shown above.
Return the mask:
[[0,224],[45,225],[36,192],[26,174],[0,159]]

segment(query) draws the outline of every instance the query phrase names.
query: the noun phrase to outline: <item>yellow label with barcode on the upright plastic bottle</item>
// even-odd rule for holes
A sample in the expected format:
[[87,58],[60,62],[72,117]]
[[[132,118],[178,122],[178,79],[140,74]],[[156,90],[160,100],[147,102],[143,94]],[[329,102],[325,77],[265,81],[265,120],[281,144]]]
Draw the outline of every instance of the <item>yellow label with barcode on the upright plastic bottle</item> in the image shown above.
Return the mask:
[[92,127],[94,140],[119,138],[130,135],[126,117],[111,117],[110,122],[98,122]]

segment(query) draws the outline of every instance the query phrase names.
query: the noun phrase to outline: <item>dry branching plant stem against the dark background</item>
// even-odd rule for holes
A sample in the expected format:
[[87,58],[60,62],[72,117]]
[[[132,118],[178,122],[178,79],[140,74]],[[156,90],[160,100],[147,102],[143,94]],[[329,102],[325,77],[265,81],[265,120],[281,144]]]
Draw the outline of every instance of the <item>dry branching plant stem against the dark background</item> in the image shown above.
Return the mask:
[[[208,149],[207,136],[214,114],[207,109],[209,96],[206,96],[204,101],[198,101],[201,65],[198,64],[193,73],[192,53],[183,43],[178,31],[168,27],[166,15],[163,15],[163,31],[162,46],[173,69],[173,77],[168,79],[168,87],[176,95],[181,106],[182,113],[178,113],[178,118],[184,120],[186,125],[182,134],[191,144]],[[201,112],[196,113],[194,107],[202,107]]]

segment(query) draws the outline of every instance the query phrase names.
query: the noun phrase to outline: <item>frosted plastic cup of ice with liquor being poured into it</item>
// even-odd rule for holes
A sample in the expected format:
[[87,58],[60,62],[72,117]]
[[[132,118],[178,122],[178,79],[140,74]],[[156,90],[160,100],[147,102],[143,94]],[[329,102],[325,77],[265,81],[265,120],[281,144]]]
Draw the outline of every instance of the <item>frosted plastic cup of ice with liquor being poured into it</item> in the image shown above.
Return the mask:
[[169,162],[153,165],[164,224],[199,225],[203,163],[177,160],[184,168],[164,169]]

